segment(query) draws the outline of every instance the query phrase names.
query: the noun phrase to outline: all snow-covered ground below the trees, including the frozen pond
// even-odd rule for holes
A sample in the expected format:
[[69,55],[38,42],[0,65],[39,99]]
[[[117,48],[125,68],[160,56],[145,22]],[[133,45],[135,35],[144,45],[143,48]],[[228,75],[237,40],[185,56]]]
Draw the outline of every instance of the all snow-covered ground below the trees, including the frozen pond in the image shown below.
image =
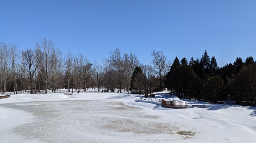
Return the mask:
[[[157,93],[156,98],[179,100]],[[0,99],[1,143],[255,143],[256,107],[168,109],[128,93]],[[173,99],[171,99],[173,98]],[[200,103],[187,101],[188,103]]]

